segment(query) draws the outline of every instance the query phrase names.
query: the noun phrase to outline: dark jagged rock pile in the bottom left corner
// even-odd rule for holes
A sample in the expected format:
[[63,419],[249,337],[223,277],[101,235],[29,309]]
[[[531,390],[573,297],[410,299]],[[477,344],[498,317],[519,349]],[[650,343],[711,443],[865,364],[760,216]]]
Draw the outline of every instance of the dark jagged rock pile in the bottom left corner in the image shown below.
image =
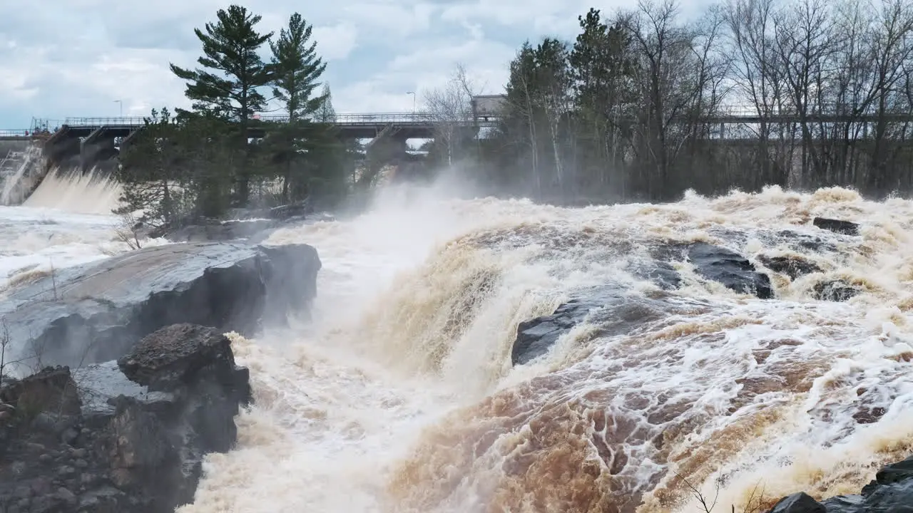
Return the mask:
[[[117,363],[48,368],[6,387],[16,414],[0,422],[0,511],[173,511],[192,500],[204,455],[235,444],[247,378],[218,330],[183,324]],[[77,391],[79,407],[29,399],[50,390]]]

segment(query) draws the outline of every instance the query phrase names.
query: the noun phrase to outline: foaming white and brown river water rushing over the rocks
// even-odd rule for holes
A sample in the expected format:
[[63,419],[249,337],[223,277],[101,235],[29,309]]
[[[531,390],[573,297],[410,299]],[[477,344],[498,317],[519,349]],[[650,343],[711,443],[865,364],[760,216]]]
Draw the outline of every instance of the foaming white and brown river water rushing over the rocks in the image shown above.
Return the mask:
[[[129,249],[99,200],[78,201],[110,183],[64,182],[0,209],[0,280]],[[320,252],[312,320],[230,335],[255,403],[179,512],[694,511],[688,484],[719,489],[723,510],[764,510],[799,490],[855,493],[913,452],[913,203],[768,188],[570,209],[453,189],[388,187],[363,215],[268,238]],[[776,299],[687,262],[672,291],[631,272],[695,241],[752,259]],[[761,255],[822,271],[791,280]],[[862,293],[815,299],[834,278]],[[593,312],[511,366],[520,321],[605,285],[643,310],[634,330],[606,335],[617,312]]]

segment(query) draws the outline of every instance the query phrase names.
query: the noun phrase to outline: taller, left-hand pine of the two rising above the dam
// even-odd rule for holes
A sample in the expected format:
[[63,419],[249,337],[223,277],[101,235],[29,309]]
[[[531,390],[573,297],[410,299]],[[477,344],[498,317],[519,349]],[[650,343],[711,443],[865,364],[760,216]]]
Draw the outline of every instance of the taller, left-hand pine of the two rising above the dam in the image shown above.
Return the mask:
[[203,43],[205,55],[197,58],[202,68],[191,70],[172,64],[171,69],[187,81],[184,94],[194,101],[197,113],[237,123],[238,142],[245,152],[236,172],[236,203],[244,205],[250,194],[248,129],[254,114],[263,110],[267,102],[257,89],[268,85],[272,77],[271,67],[257,55],[257,50],[273,33],[258,33],[256,26],[262,16],[239,5],[219,9],[216,17],[215,24],[205,25],[205,32],[194,29]]

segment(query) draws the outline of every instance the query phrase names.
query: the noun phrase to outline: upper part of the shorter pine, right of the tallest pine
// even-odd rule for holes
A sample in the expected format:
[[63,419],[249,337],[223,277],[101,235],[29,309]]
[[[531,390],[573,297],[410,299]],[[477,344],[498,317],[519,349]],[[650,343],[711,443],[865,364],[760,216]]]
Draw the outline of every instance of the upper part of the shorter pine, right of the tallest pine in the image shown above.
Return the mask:
[[270,41],[273,51],[273,96],[289,112],[289,123],[306,119],[323,105],[326,96],[311,98],[327,65],[317,56],[317,42],[310,41],[310,26],[298,13],[289,16],[289,27]]

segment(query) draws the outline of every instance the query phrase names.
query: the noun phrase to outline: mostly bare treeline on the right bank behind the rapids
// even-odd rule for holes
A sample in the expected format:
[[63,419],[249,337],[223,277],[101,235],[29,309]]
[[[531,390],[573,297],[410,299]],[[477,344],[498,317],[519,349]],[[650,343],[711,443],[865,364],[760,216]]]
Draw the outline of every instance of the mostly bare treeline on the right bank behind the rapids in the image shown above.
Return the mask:
[[[575,41],[519,49],[498,128],[438,138],[437,162],[457,152],[492,190],[565,204],[766,184],[911,190],[908,0],[729,0],[693,20],[642,0],[579,19]],[[468,105],[470,85],[457,73],[430,109]]]

